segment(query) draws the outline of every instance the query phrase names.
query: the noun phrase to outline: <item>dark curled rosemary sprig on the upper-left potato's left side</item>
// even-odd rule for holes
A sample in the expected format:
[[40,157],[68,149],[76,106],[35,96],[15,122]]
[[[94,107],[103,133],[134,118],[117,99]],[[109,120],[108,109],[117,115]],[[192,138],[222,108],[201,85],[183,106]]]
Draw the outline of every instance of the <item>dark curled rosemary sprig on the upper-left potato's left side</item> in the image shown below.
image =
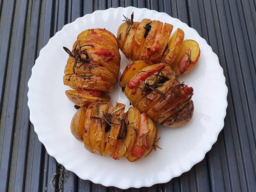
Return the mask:
[[[78,45],[78,47],[77,47]],[[73,65],[73,73],[75,73],[76,68],[81,68],[85,63],[90,63],[92,59],[89,59],[89,55],[87,53],[87,49],[81,50],[84,46],[93,46],[93,45],[83,45],[80,46],[80,43],[76,44],[73,52],[71,52],[67,47],[63,47],[63,49],[68,53],[70,57],[73,57],[75,59],[74,65]],[[85,59],[82,58],[82,55],[85,55]],[[81,63],[80,65],[77,65],[78,63]]]

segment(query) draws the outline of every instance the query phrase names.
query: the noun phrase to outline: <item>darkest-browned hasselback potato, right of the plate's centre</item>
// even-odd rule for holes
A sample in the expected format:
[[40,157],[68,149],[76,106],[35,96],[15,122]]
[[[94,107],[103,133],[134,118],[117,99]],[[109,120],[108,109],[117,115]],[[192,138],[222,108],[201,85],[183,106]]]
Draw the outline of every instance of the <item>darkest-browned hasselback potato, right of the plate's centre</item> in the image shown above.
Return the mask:
[[179,127],[192,118],[193,88],[180,83],[165,63],[132,61],[120,77],[120,86],[133,107],[155,123]]

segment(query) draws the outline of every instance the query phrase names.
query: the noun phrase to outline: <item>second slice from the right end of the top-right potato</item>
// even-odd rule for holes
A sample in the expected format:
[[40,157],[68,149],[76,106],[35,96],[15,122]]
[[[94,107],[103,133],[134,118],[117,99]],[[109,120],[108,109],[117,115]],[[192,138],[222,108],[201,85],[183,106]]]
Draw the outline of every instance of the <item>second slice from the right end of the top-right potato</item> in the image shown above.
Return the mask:
[[162,59],[163,62],[171,65],[175,60],[178,52],[180,51],[180,46],[184,39],[184,31],[178,28],[174,34],[172,35],[170,41],[167,44],[167,49],[164,53],[164,57]]

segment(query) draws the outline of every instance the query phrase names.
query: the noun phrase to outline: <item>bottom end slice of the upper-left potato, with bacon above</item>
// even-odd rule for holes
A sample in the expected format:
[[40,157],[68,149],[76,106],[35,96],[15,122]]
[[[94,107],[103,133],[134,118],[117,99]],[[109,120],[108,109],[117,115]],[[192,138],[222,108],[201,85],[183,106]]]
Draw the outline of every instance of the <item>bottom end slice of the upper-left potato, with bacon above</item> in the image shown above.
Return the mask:
[[68,99],[78,106],[88,106],[92,102],[110,100],[110,97],[106,94],[101,94],[100,97],[92,97],[85,94],[80,94],[74,90],[67,90],[65,93]]

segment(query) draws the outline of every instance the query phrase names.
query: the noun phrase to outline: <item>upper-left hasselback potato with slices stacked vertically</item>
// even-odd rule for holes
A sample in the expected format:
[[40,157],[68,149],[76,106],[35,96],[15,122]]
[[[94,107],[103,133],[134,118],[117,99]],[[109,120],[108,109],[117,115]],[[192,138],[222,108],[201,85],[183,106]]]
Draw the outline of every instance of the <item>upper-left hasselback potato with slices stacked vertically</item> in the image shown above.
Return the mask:
[[72,51],[63,47],[69,58],[63,82],[75,90],[67,90],[69,100],[88,106],[98,100],[109,101],[118,81],[120,53],[116,37],[106,29],[87,29],[77,36]]

